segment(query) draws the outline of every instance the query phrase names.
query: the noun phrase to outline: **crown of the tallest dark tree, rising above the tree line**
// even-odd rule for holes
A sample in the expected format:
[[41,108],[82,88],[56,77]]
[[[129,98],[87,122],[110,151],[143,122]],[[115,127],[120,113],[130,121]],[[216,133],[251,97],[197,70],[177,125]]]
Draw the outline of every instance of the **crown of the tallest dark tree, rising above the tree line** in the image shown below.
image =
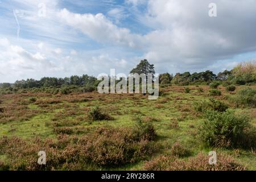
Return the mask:
[[146,78],[147,78],[147,75],[151,73],[152,78],[154,78],[154,74],[155,74],[154,64],[148,63],[146,59],[141,60],[141,63],[139,63],[136,68],[133,68],[130,71],[130,73],[138,73],[139,75],[144,73],[146,75]]

